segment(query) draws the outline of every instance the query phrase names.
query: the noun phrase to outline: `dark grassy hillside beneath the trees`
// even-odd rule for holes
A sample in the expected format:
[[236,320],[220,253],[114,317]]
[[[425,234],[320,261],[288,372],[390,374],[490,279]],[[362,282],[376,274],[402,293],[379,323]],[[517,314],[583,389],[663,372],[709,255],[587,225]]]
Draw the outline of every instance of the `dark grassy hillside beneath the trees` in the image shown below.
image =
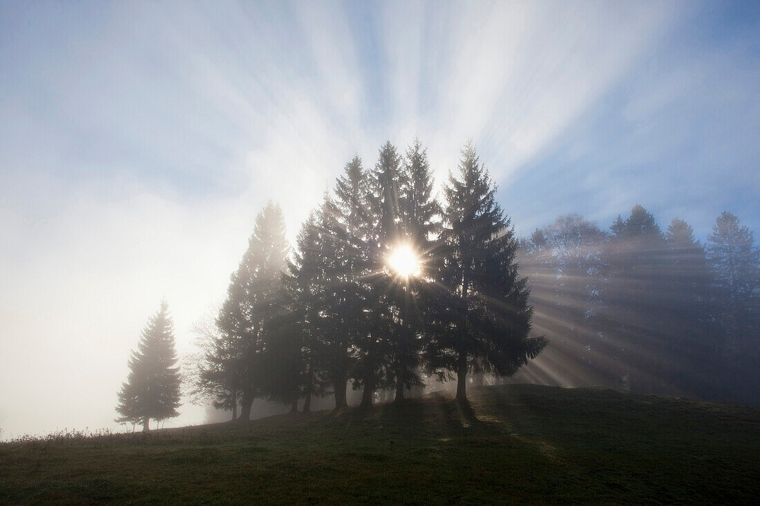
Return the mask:
[[752,504],[760,410],[534,385],[0,444],[10,504]]

